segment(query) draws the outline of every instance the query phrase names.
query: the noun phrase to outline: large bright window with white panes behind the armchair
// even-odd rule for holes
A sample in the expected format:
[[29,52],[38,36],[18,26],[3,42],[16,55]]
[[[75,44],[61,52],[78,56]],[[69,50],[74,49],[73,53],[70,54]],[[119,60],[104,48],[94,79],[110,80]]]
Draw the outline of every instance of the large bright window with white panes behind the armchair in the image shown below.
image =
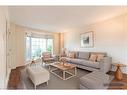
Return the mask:
[[26,61],[38,59],[46,51],[53,53],[53,39],[26,37]]

